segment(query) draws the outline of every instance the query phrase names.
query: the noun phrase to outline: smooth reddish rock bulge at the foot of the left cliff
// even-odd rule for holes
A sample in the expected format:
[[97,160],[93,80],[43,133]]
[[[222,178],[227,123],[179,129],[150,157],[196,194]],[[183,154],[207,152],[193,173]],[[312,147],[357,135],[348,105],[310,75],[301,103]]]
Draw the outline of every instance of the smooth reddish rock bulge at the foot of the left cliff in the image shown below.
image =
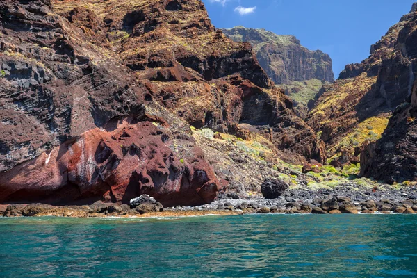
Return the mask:
[[101,199],[129,204],[148,194],[165,206],[195,205],[213,201],[217,185],[201,149],[189,136],[151,122],[124,122],[113,131],[83,133],[3,173],[0,202],[65,204]]

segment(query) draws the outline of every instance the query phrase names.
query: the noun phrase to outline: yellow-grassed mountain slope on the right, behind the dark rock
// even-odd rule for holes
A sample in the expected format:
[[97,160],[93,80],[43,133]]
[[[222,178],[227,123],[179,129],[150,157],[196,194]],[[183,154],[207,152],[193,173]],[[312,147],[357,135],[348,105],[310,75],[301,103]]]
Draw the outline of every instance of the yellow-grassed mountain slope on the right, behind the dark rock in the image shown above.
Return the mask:
[[416,21],[413,9],[370,48],[369,58],[347,65],[339,79],[320,92],[307,122],[326,143],[329,156],[341,163],[359,162],[363,144],[378,140],[391,113],[409,101],[417,73]]

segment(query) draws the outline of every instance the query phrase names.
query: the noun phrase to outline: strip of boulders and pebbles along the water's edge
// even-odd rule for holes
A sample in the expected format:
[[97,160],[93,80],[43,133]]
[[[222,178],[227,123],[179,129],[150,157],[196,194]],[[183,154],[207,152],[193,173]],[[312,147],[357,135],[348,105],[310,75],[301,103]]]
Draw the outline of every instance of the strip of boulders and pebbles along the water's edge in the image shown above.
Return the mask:
[[[222,196],[220,196],[222,197]],[[140,197],[142,198],[142,196]],[[343,188],[334,190],[286,190],[275,198],[231,196],[202,206],[163,208],[152,197],[133,199],[131,205],[95,202],[84,206],[51,206],[49,204],[9,204],[0,206],[3,217],[182,217],[193,215],[241,215],[250,213],[417,213],[417,188],[401,190],[366,189],[356,192]]]

